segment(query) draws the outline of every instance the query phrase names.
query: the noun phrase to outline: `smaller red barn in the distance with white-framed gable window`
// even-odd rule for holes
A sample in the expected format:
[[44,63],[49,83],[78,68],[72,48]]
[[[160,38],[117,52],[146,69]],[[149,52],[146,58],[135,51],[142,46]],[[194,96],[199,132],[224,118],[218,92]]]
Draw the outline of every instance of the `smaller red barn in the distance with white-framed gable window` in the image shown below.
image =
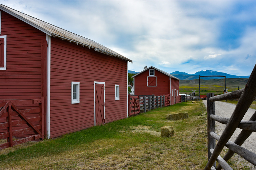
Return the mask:
[[133,77],[134,95],[162,96],[171,94],[171,105],[179,103],[179,81],[173,75],[149,67]]

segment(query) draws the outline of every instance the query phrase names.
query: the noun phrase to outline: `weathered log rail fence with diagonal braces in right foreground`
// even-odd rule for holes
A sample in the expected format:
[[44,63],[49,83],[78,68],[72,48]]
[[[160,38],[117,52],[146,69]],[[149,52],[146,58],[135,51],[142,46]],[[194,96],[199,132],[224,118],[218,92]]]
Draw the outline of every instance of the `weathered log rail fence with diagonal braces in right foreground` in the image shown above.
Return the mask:
[[[214,96],[214,94],[207,94],[207,132],[208,132],[208,163],[205,166],[205,170],[209,169],[232,169],[227,161],[233,156],[234,153],[239,154],[241,157],[246,159],[248,162],[256,166],[256,154],[248,151],[247,149],[241,147],[243,142],[253,133],[256,132],[256,112],[250,118],[249,121],[242,121],[245,113],[252,104],[256,96],[256,65],[252,71],[250,78],[244,89],[237,90],[234,92],[226,93],[223,95]],[[237,106],[232,114],[232,116],[227,118],[222,118],[215,115],[215,101],[219,100],[232,100],[239,98]],[[227,124],[222,135],[219,136],[215,133],[215,121],[223,124]],[[233,135],[234,131],[240,128],[242,129],[239,136],[234,142],[229,141],[230,137]],[[217,140],[217,145],[215,146],[215,140]],[[222,149],[226,146],[229,150],[226,155],[222,158],[219,156]],[[216,168],[216,162],[219,165]]]

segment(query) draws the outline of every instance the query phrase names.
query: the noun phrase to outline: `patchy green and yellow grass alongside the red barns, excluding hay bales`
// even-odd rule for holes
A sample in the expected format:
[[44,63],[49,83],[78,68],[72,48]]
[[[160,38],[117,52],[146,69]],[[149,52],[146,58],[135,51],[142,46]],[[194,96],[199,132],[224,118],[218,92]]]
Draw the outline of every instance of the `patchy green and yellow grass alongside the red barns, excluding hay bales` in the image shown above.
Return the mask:
[[[166,119],[177,112],[188,119]],[[165,125],[174,136],[161,137]],[[202,102],[179,103],[0,154],[1,169],[203,169],[206,109]],[[235,160],[229,164],[240,169]]]

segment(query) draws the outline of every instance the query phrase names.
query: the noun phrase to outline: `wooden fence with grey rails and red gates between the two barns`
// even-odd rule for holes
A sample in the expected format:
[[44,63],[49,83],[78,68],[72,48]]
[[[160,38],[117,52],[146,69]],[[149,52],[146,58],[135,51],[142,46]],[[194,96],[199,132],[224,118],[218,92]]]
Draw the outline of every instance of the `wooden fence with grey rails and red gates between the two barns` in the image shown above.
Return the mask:
[[171,95],[128,95],[128,116],[171,105]]

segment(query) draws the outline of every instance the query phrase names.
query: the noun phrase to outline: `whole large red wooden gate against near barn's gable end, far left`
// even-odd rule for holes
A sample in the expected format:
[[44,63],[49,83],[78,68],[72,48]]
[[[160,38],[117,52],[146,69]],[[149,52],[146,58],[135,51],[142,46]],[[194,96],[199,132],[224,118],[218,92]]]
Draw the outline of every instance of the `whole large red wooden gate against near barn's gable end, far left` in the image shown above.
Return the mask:
[[[19,139],[13,140],[13,137]],[[0,149],[44,139],[44,99],[0,101]]]

